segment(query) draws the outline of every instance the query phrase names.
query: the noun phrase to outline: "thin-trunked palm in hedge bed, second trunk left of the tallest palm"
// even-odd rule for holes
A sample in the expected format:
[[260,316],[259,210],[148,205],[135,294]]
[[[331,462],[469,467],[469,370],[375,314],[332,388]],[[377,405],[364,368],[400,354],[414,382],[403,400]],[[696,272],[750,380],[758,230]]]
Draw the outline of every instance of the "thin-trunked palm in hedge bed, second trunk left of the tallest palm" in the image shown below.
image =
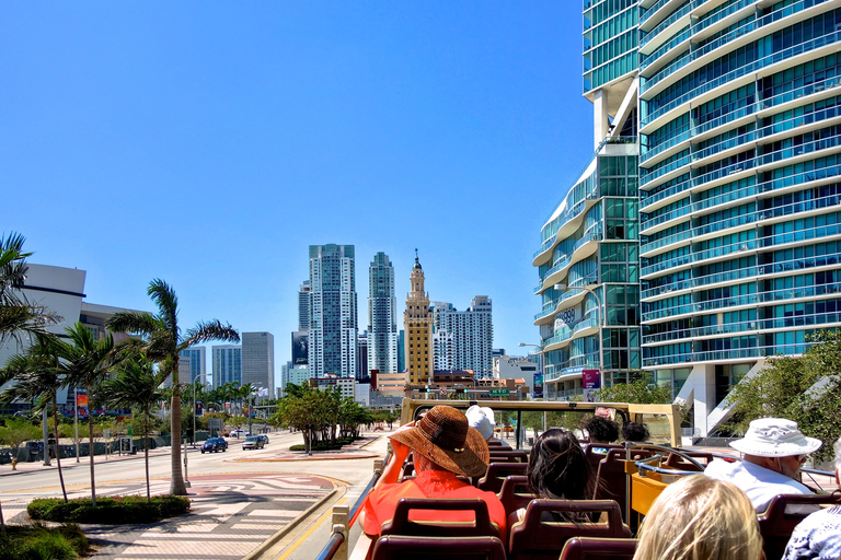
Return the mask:
[[120,352],[114,346],[114,337],[106,334],[96,340],[93,332],[77,323],[66,329],[69,342],[61,341],[59,357],[60,369],[66,375],[68,385],[83,386],[88,389],[88,428],[91,458],[91,503],[96,506],[96,482],[93,467],[93,405],[97,394],[97,385],[105,376],[124,361],[128,354]]

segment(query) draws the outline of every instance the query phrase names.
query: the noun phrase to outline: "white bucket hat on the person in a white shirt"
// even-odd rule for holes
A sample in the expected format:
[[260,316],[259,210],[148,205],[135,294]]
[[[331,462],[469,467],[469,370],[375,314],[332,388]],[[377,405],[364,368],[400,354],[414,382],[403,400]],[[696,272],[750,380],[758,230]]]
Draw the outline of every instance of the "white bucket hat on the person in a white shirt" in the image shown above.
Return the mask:
[[783,418],[760,418],[750,422],[741,440],[730,442],[730,447],[745,455],[757,457],[788,457],[815,453],[823,442],[803,435],[797,422]]

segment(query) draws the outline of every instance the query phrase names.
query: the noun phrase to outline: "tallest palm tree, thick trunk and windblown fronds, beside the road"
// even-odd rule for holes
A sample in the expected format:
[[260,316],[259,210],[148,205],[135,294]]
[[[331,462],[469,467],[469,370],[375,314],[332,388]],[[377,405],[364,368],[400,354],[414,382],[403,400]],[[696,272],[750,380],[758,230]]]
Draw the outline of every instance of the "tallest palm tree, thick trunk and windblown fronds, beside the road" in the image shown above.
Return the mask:
[[172,375],[172,406],[170,423],[172,432],[172,482],[170,493],[186,495],[181,466],[181,384],[178,383],[178,352],[208,340],[239,342],[240,335],[230,325],[219,320],[199,322],[184,335],[178,328],[178,299],[171,285],[161,279],[149,283],[147,294],[158,306],[158,313],[139,312],[114,314],[106,327],[114,332],[142,335],[142,350],[147,358],[159,365],[162,378]]

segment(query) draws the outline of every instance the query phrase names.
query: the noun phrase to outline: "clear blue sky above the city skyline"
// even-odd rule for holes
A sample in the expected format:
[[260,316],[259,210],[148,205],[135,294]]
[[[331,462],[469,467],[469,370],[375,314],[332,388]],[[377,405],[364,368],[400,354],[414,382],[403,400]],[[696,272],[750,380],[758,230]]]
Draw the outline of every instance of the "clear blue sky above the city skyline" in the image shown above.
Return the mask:
[[[537,342],[531,257],[592,151],[580,2],[3,2],[0,232],[89,302],[219,318],[290,358],[308,246],[378,250],[402,318],[494,303]],[[208,355],[209,359],[209,355]]]

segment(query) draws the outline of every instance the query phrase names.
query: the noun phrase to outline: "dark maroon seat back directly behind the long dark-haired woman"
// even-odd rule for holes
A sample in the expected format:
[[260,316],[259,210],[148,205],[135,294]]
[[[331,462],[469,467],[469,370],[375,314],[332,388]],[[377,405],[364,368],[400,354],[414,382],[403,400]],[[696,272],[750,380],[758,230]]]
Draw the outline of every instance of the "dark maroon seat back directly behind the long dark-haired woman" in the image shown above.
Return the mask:
[[[568,522],[554,512],[583,521]],[[591,523],[607,513],[607,523]],[[532,500],[522,522],[511,526],[508,536],[509,560],[556,560],[573,537],[630,538],[622,523],[619,504],[612,500]]]

